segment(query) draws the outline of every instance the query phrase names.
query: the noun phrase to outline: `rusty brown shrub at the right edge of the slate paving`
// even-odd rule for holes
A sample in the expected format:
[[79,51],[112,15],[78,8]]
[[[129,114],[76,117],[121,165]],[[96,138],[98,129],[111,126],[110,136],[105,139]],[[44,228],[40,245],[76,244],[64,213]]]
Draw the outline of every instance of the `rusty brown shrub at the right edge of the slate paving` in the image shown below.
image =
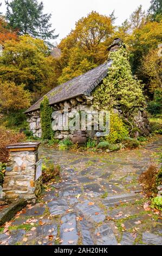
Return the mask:
[[141,183],[146,196],[150,197],[157,193],[157,168],[151,164],[146,172],[139,176],[139,182]]

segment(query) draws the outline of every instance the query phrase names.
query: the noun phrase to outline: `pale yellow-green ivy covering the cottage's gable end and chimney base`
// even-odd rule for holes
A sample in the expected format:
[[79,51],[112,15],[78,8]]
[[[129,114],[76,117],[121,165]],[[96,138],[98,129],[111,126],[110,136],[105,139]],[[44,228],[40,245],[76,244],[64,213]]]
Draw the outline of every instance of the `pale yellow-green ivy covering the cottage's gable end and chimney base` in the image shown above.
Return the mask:
[[144,107],[143,86],[141,81],[132,75],[125,48],[110,52],[109,59],[113,60],[113,64],[107,77],[93,93],[94,107],[111,109],[119,105],[123,112],[132,112],[136,108]]

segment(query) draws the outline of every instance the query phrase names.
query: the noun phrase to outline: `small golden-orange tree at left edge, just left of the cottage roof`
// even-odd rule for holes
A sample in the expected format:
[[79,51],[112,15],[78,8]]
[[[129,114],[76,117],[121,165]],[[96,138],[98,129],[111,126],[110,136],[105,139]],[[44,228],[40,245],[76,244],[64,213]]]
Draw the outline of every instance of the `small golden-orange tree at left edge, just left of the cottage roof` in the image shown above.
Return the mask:
[[0,109],[2,111],[17,111],[30,106],[30,93],[24,90],[24,85],[16,86],[14,82],[0,81]]

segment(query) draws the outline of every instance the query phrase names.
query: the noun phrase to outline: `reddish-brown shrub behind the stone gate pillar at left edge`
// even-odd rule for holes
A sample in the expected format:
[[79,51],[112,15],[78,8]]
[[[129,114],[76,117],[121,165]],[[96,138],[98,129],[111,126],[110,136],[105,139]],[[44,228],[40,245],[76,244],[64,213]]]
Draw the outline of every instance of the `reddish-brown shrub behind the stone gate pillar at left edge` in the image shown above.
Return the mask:
[[6,145],[18,143],[25,140],[24,133],[16,133],[15,131],[7,130],[0,126],[0,162],[6,163],[9,157],[9,151]]

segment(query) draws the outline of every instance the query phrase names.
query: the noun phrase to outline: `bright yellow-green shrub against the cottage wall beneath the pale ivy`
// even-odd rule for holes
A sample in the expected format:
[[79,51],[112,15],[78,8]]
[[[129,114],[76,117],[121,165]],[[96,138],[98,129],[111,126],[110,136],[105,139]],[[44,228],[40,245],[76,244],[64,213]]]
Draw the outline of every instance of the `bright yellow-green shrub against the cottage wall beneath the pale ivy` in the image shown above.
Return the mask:
[[128,137],[128,130],[118,114],[111,114],[110,133],[106,139],[110,143],[120,143]]

